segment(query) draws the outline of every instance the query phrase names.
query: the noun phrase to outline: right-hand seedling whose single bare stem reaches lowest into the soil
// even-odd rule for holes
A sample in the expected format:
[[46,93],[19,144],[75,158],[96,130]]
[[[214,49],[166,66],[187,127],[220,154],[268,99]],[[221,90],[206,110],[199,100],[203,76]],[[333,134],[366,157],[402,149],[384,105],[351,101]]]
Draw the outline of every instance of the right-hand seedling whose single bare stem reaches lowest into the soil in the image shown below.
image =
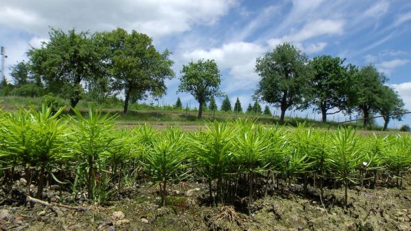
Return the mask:
[[362,145],[356,130],[351,126],[340,128],[332,135],[330,164],[332,176],[343,180],[345,186],[345,206],[347,206],[347,187],[349,182],[356,183],[358,172],[356,168],[362,159]]

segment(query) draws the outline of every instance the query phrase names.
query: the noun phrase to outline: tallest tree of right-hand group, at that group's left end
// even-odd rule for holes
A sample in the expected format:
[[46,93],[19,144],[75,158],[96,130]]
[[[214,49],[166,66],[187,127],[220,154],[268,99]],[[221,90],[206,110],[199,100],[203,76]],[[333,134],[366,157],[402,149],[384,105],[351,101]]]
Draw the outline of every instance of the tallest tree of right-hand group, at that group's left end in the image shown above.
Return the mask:
[[312,71],[307,64],[307,55],[289,43],[279,44],[257,59],[260,82],[255,96],[281,109],[280,122],[284,122],[287,109],[308,106]]

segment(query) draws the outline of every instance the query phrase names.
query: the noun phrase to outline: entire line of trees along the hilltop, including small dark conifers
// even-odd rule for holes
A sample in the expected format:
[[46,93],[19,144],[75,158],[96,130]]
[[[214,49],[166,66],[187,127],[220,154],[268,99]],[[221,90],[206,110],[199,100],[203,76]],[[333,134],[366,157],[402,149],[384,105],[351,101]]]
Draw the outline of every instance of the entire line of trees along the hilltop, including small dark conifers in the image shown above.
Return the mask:
[[[96,100],[123,94],[123,111],[127,113],[129,102],[163,96],[164,81],[175,76],[171,52],[157,51],[144,33],[128,33],[121,28],[92,34],[51,29],[49,36],[49,42],[43,42],[40,48],[29,49],[29,61],[14,65],[11,74],[16,85],[26,90],[41,88],[66,98],[73,108],[85,92]],[[388,79],[373,65],[359,68],[329,55],[309,60],[295,46],[284,43],[259,57],[255,70],[260,82],[253,98],[279,108],[280,122],[284,122],[288,109],[311,107],[322,114],[323,122],[332,113],[361,113],[364,126],[371,114],[379,113],[386,128],[391,119],[401,119],[398,113],[404,111],[403,100],[385,85]],[[216,109],[214,96],[223,96],[223,92],[214,60],[183,65],[179,80],[178,91],[191,94],[199,102],[198,118],[207,103],[210,109]],[[252,110],[260,112],[258,107],[254,105]],[[242,111],[239,100],[232,109],[227,96],[221,109]]]

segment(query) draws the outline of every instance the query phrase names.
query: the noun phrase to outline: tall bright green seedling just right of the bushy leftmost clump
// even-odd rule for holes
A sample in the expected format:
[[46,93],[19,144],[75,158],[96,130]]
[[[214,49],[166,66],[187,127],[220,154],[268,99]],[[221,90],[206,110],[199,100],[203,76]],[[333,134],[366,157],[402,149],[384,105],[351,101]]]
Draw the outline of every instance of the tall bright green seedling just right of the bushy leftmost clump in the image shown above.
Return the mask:
[[[82,170],[80,178],[86,182],[88,199],[98,200],[99,195],[95,192],[105,193],[105,190],[97,189],[97,180],[100,187],[107,187],[107,182],[103,180],[106,174],[105,157],[111,148],[119,145],[114,142],[116,137],[113,136],[117,116],[109,116],[108,113],[102,116],[101,112],[90,109],[86,117],[76,109],[73,111],[76,117],[71,118],[74,130],[71,144],[75,150],[77,166]],[[97,174],[99,179],[96,178]]]

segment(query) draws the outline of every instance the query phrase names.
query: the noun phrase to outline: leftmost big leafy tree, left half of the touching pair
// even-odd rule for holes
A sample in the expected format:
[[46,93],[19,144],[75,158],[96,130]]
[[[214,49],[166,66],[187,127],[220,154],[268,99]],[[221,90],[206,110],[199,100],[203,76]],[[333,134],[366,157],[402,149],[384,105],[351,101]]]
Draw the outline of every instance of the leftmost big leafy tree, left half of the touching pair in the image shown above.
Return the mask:
[[100,77],[101,53],[88,32],[51,29],[49,42],[27,52],[32,71],[45,81],[47,90],[68,98],[75,107],[82,98],[82,83]]

